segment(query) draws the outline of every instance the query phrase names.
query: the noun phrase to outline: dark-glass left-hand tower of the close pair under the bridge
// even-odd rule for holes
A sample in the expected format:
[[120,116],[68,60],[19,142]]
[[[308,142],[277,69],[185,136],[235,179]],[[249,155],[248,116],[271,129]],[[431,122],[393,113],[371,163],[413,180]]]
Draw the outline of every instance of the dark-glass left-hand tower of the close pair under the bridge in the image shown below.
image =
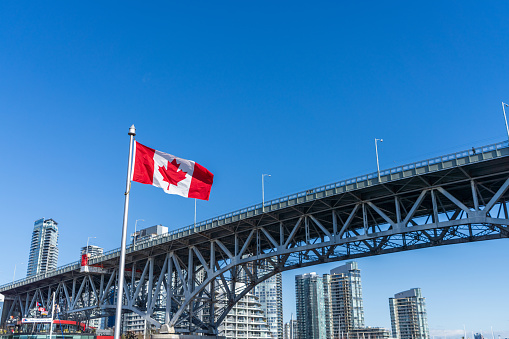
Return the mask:
[[295,339],[326,339],[323,279],[316,273],[295,276],[297,329]]

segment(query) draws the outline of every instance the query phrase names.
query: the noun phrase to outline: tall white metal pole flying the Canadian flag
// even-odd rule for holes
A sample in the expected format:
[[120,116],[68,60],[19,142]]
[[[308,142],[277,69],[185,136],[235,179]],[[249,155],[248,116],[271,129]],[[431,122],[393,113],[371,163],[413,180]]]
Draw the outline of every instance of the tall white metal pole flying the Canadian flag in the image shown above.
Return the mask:
[[124,224],[122,226],[122,245],[120,246],[120,264],[118,269],[118,291],[117,309],[115,312],[115,333],[114,339],[120,339],[120,323],[122,317],[122,299],[124,296],[124,270],[125,270],[125,244],[127,238],[127,215],[129,212],[129,191],[131,189],[131,167],[133,162],[133,140],[136,135],[136,128],[132,125],[129,128],[129,162],[127,165],[127,182],[124,200]]

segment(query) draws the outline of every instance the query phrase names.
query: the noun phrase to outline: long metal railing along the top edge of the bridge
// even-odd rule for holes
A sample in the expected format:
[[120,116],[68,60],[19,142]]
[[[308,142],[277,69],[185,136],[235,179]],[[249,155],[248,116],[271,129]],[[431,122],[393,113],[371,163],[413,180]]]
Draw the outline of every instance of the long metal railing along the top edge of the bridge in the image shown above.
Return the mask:
[[[435,164],[439,164],[439,163],[444,163],[446,161],[467,158],[472,155],[478,155],[478,154],[482,155],[486,152],[500,150],[502,148],[508,148],[508,147],[509,147],[508,141],[498,142],[495,144],[490,144],[490,145],[481,146],[481,147],[472,147],[469,150],[465,150],[465,151],[461,151],[461,152],[454,152],[454,153],[450,153],[447,155],[433,157],[433,158],[429,158],[426,160],[421,160],[421,161],[405,164],[402,166],[396,166],[396,167],[392,167],[389,169],[385,169],[385,170],[380,171],[380,177],[385,177],[385,176],[388,176],[391,174],[408,171],[408,170],[412,170],[412,169],[417,169],[417,168],[421,168],[421,167],[425,167],[425,166],[431,166],[431,165],[435,165]],[[477,161],[483,161],[483,160],[484,159],[481,157],[480,160],[477,160]],[[477,161],[474,161],[474,162],[477,162]],[[302,197],[308,197],[310,195],[320,193],[320,192],[323,192],[326,190],[334,189],[337,187],[343,187],[343,186],[350,185],[353,183],[366,182],[368,180],[376,179],[376,178],[378,178],[378,172],[372,172],[369,174],[353,177],[350,179],[341,180],[341,181],[338,181],[338,182],[335,182],[332,184],[323,185],[323,186],[315,187],[315,188],[308,189],[308,190],[305,190],[302,192],[290,194],[285,197],[268,200],[264,203],[264,207],[268,207],[269,211],[274,211],[276,209],[279,209],[279,208],[277,208],[277,206],[279,206],[278,204],[281,204],[283,202],[287,202],[287,201],[302,198]],[[221,220],[233,217],[233,216],[245,214],[248,212],[253,212],[253,215],[254,215],[254,213],[256,213],[257,211],[259,213],[263,213],[262,204],[256,204],[253,206],[245,207],[245,208],[236,210],[234,212],[226,213],[226,214],[214,217],[214,218],[210,218],[210,219],[198,222],[198,223],[196,223],[196,225],[192,224],[192,225],[182,227],[182,228],[179,228],[179,229],[176,229],[176,230],[170,231],[168,233],[161,234],[161,235],[158,235],[158,236],[146,239],[146,240],[141,240],[141,241],[137,242],[135,245],[130,244],[130,245],[126,246],[126,250],[127,250],[127,253],[130,253],[130,252],[134,252],[136,250],[140,250],[140,249],[143,249],[143,248],[146,248],[149,246],[154,246],[154,245],[157,245],[157,244],[160,244],[163,242],[167,242],[167,241],[170,241],[170,240],[173,240],[176,238],[187,236],[192,233],[202,232],[207,229],[213,228],[214,222],[218,222],[218,221],[221,221]],[[96,257],[91,258],[91,262],[92,263],[101,262],[101,261],[110,259],[112,257],[118,256],[119,254],[120,254],[120,247],[109,250],[109,251],[103,253],[102,256],[96,256]],[[76,266],[76,267],[74,268],[73,266]],[[12,283],[3,284],[0,286],[0,289],[8,287],[9,285],[12,285],[12,287],[16,287],[17,285],[22,284],[22,283],[28,283],[28,282],[39,280],[41,278],[45,278],[48,276],[60,274],[65,270],[70,270],[71,267],[73,267],[73,269],[78,269],[79,261],[73,262],[73,263],[70,263],[70,264],[67,264],[64,266],[60,266],[56,270],[50,271],[45,274],[38,274],[35,276],[16,280]]]

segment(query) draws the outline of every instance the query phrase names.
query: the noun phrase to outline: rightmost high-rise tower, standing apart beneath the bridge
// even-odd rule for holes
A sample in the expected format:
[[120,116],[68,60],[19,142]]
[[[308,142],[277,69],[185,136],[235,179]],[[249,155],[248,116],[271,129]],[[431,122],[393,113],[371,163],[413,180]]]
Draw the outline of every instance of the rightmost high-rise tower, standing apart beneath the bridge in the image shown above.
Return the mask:
[[398,339],[429,339],[425,298],[420,288],[389,298],[392,336]]

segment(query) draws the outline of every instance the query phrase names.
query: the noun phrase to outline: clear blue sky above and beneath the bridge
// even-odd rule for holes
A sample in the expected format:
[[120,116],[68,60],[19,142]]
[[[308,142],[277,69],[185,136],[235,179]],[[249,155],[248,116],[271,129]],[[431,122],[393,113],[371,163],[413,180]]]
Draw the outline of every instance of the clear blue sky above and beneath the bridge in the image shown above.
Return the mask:
[[[257,1],[0,2],[0,283],[26,272],[34,220],[59,264],[87,237],[120,245],[127,131],[215,174],[206,219],[266,198],[505,140],[509,4]],[[133,184],[140,226],[194,203]],[[421,287],[432,334],[509,336],[507,240],[359,260],[366,324]],[[23,263],[23,265],[20,265]],[[306,271],[324,273],[332,266]],[[285,273],[284,318],[294,312]],[[443,332],[438,332],[443,331]],[[498,331],[498,332],[497,332]]]

